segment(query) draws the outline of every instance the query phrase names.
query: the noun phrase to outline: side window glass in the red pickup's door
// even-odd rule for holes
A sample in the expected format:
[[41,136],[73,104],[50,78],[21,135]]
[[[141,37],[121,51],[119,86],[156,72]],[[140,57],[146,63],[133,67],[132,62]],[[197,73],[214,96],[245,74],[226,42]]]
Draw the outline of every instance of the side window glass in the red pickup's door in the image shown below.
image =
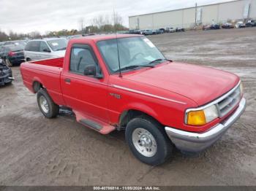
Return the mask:
[[83,74],[84,69],[89,65],[98,68],[91,50],[85,47],[72,47],[69,70]]

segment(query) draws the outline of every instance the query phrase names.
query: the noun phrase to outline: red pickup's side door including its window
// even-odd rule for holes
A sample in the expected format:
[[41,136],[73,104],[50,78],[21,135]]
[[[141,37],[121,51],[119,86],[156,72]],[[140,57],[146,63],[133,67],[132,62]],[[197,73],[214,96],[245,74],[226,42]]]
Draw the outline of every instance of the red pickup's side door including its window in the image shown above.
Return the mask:
[[[66,63],[67,64],[67,63]],[[89,45],[73,44],[69,57],[69,70],[61,75],[61,87],[67,106],[98,120],[108,122],[108,86],[102,79],[84,74],[86,66],[96,66],[101,73],[97,58]]]

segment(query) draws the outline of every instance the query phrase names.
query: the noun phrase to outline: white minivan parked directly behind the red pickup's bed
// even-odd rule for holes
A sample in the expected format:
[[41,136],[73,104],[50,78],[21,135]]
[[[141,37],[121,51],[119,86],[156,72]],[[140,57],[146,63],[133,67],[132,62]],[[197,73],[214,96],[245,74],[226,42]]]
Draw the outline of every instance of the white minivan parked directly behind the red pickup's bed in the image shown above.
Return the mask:
[[24,55],[26,61],[58,58],[65,55],[67,39],[37,39],[26,44]]

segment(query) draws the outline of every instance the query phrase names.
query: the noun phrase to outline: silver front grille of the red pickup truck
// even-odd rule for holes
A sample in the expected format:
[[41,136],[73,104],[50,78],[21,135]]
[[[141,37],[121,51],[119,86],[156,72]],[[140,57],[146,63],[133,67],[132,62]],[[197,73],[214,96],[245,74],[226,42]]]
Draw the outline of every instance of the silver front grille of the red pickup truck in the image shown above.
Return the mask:
[[219,111],[219,117],[224,117],[228,112],[230,112],[240,101],[241,92],[240,87],[236,87],[235,90],[231,90],[232,93],[227,93],[228,95],[219,101],[216,106]]

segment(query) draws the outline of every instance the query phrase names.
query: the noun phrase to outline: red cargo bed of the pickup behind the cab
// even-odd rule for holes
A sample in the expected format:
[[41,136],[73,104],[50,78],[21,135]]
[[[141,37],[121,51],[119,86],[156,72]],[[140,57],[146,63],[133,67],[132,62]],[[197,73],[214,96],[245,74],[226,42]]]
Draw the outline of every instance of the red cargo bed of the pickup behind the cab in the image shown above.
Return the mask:
[[64,99],[61,92],[61,71],[64,58],[51,58],[40,61],[29,61],[20,65],[20,72],[23,77],[23,83],[31,90],[34,90],[34,84],[38,82],[48,90],[51,98],[56,104],[64,105]]

